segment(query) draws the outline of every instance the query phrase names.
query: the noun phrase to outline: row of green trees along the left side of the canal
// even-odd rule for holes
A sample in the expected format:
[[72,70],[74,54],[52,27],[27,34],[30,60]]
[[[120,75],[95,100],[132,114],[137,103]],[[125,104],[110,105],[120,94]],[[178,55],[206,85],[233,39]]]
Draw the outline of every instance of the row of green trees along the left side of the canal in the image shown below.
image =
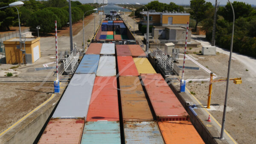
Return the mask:
[[[16,0],[0,0],[0,7],[8,6]],[[40,26],[43,33],[52,32],[57,20],[57,28],[61,29],[69,22],[69,8],[67,0],[36,1],[25,0],[24,5],[17,8],[20,14],[20,23],[36,30]],[[94,9],[89,4],[82,5],[79,1],[71,1],[72,22],[82,19],[84,12]],[[85,16],[93,11],[87,12]],[[17,10],[14,7],[0,10],[0,30],[10,30],[11,26],[18,26]]]

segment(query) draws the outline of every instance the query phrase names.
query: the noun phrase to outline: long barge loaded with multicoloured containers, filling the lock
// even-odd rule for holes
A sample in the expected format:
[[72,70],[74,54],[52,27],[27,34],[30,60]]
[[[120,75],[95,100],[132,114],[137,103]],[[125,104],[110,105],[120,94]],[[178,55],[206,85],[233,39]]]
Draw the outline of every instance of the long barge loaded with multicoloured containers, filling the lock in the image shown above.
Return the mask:
[[38,143],[204,144],[122,19],[97,29]]

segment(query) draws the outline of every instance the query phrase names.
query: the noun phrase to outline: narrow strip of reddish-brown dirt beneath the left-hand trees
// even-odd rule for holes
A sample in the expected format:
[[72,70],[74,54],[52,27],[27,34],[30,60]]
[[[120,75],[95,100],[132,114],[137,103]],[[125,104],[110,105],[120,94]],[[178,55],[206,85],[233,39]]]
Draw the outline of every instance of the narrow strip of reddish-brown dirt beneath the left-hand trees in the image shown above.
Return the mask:
[[[93,14],[90,14],[87,17],[84,17],[84,26],[86,26],[91,20],[93,20],[94,16]],[[95,20],[95,22],[98,22],[99,20]],[[81,29],[83,29],[83,20],[80,20],[76,23],[72,23],[72,33],[73,35],[77,35]],[[58,30],[58,37],[61,36],[69,36],[69,31],[70,28],[68,27],[63,27],[62,29]],[[42,35],[41,37],[49,37],[49,36],[55,36],[55,32],[49,33],[47,35]]]

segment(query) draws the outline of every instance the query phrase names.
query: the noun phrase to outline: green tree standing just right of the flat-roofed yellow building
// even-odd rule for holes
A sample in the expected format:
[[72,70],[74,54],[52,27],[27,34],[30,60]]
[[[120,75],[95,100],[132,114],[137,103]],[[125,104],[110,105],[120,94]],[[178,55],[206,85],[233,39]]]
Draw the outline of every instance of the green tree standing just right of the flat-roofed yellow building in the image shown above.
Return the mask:
[[205,11],[212,7],[212,3],[205,2],[205,0],[190,0],[190,8],[193,10],[190,14],[196,21],[195,29],[198,23],[206,18]]

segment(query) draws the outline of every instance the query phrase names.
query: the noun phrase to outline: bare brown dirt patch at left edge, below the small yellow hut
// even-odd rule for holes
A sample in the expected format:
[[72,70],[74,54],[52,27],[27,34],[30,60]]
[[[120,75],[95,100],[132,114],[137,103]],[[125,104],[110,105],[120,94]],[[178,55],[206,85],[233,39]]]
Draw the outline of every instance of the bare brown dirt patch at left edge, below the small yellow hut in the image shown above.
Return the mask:
[[46,101],[52,83],[0,83],[0,133]]

